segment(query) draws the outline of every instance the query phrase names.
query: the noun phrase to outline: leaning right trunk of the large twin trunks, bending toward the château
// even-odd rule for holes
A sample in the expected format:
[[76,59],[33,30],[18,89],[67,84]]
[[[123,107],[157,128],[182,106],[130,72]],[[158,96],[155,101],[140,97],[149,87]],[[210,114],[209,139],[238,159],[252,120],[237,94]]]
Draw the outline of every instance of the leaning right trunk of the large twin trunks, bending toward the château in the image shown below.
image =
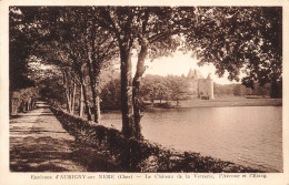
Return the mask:
[[132,91],[132,100],[133,100],[133,114],[134,114],[134,130],[136,130],[136,136],[138,138],[141,137],[140,132],[140,120],[141,120],[141,95],[140,95],[140,82],[141,76],[143,75],[146,68],[144,68],[144,61],[148,53],[148,41],[142,39],[141,41],[141,50],[138,55],[138,64],[137,64],[137,71],[136,75],[133,78],[133,91]]

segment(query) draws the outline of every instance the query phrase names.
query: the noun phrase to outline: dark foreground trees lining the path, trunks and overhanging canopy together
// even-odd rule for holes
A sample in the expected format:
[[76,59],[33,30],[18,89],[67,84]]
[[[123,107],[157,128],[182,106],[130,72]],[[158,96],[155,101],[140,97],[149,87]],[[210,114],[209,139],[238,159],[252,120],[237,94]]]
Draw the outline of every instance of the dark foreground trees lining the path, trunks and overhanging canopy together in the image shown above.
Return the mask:
[[[181,48],[200,64],[213,63],[219,75],[228,71],[229,79],[239,80],[243,69],[245,84],[273,84],[281,80],[281,16],[277,7],[11,7],[10,64],[49,64],[49,75],[62,79],[68,111],[73,113],[79,93],[79,114],[86,110],[88,120],[100,123],[100,74],[119,60],[122,132],[140,138],[146,59]],[[134,75],[132,50],[138,58]],[[24,53],[14,59],[18,52]],[[11,84],[19,78],[10,76]],[[47,76],[32,72],[30,79],[39,82]]]

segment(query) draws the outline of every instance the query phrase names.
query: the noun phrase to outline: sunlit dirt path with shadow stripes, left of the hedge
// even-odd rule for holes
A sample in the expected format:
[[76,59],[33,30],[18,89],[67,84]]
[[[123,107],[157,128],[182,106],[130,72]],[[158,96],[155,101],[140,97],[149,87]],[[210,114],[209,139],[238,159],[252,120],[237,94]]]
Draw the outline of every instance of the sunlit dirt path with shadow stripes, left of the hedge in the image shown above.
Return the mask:
[[44,102],[10,120],[12,172],[86,172],[78,163],[74,138],[61,126]]

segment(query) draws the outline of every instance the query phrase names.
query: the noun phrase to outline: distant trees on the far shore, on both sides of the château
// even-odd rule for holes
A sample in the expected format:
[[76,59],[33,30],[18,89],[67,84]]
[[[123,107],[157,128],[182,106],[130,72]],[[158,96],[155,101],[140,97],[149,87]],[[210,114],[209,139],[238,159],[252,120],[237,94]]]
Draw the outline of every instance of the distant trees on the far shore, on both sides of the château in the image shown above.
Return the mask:
[[[189,80],[186,76],[177,75],[146,75],[142,79],[140,86],[140,93],[142,97],[142,104],[166,101],[176,101],[176,105],[179,105],[179,101],[189,100]],[[253,84],[252,88],[247,88],[243,84],[213,84],[213,93],[216,97],[223,96],[262,96],[269,97],[272,85],[266,83],[260,85],[259,83]],[[280,90],[281,91],[281,90]],[[281,95],[280,95],[281,96]],[[120,109],[120,80],[112,79],[104,86],[101,88],[101,107],[102,109]],[[165,102],[163,102],[165,103]]]

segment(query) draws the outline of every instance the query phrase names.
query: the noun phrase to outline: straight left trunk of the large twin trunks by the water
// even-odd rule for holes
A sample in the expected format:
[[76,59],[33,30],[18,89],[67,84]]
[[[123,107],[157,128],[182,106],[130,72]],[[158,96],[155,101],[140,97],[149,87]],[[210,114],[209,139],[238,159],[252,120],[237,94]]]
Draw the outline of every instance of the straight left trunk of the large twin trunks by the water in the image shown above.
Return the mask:
[[133,126],[131,55],[130,50],[126,50],[123,47],[120,49],[122,133],[126,137],[136,137]]

